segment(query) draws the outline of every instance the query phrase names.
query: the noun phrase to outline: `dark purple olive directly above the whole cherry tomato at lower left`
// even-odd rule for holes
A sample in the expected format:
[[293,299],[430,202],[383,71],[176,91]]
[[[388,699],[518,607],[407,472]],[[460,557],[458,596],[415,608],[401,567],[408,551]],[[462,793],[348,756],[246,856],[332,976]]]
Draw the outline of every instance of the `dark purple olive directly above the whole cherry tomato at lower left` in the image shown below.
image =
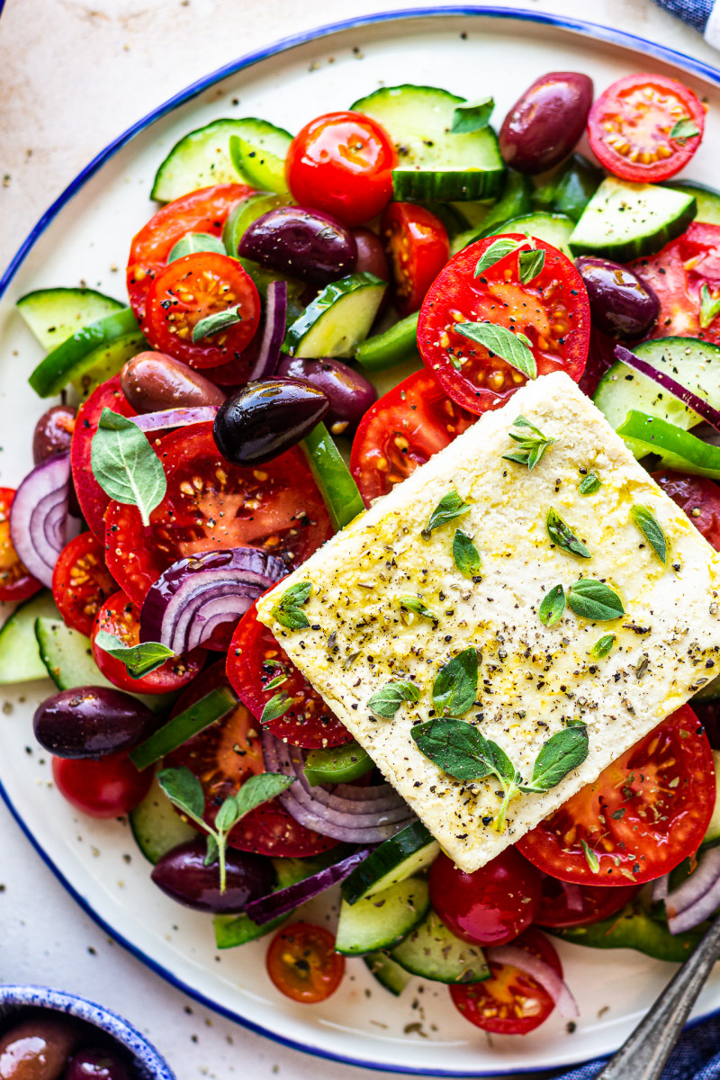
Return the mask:
[[158,724],[137,698],[104,686],[63,690],[38,706],[32,721],[40,745],[64,758],[98,758],[131,750]]

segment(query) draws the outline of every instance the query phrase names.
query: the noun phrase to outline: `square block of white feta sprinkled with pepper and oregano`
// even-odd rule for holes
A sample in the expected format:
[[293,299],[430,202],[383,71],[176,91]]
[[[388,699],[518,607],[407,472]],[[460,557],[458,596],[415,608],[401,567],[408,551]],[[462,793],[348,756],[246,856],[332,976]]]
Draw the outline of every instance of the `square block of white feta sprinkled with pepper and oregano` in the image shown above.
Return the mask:
[[[532,470],[508,432],[526,417],[549,438]],[[514,429],[518,430],[518,429]],[[588,473],[600,486],[580,491]],[[421,535],[450,491],[467,510]],[[648,508],[667,540],[665,563],[635,519]],[[547,530],[560,515],[589,557],[563,550]],[[453,559],[456,529],[481,558],[473,579]],[[682,705],[720,671],[720,555],[637,463],[604,417],[565,374],[522,387],[446,449],[377,500],[258,604],[293,662],[320,691],[447,854],[472,872],[514,843],[583,784]],[[594,578],[620,596],[612,621],[579,618],[568,606],[551,626],[539,617],[557,584]],[[275,618],[288,588],[310,582],[301,610],[310,626]],[[416,597],[431,618],[409,611]],[[614,635],[608,656],[593,646]],[[522,794],[493,827],[501,805],[492,777],[462,783],[412,740],[434,718],[439,669],[463,649],[479,659],[475,704],[462,719],[510,756],[526,781],[549,737],[586,725],[586,759],[551,791]],[[370,697],[388,681],[411,679],[418,701],[392,719]]]

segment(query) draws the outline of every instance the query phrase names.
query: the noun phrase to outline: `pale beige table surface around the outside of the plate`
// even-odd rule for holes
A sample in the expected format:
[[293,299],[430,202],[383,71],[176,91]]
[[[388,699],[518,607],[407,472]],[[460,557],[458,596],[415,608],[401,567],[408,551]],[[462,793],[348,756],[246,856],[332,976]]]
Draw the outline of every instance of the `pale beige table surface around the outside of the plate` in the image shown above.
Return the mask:
[[[504,2],[621,27],[720,66],[720,54],[651,0]],[[397,0],[6,0],[0,17],[0,267],[98,150],[188,83],[277,38],[409,6]],[[4,805],[2,982],[42,982],[116,1009],[166,1054],[178,1080],[391,1077],[286,1050],[167,986],[82,913]]]

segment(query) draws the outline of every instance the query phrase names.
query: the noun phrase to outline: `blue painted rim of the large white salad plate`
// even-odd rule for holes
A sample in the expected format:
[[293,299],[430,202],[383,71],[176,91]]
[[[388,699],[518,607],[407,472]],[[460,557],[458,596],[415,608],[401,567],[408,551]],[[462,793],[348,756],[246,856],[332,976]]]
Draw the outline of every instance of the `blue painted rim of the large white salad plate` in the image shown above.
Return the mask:
[[[2,6],[4,0],[0,0],[0,13],[2,12]],[[526,9],[513,10],[512,8],[478,8],[477,5],[466,5],[466,4],[453,4],[447,6],[430,6],[430,8],[408,8],[403,11],[388,11],[378,12],[373,15],[358,15],[354,18],[341,19],[338,23],[328,23],[325,26],[316,27],[313,30],[307,30],[303,33],[296,33],[288,38],[281,38],[280,41],[275,41],[273,44],[267,45],[263,49],[258,49],[255,52],[247,53],[241,56],[239,59],[231,60],[221,68],[210,72],[210,75],[205,76],[203,79],[199,79],[196,82],[191,83],[185,90],[169,97],[158,108],[148,112],[147,116],[138,120],[137,123],[133,124],[116,139],[109,143],[104,150],[101,150],[87,165],[76,176],[76,178],[68,184],[65,190],[57,197],[57,199],[47,207],[45,213],[39,218],[32,230],[28,233],[25,241],[21,244],[19,248],[15,253],[11,262],[0,278],[0,299],[4,296],[8,286],[12,282],[13,278],[19,270],[21,266],[25,261],[25,258],[30,253],[37,241],[43,234],[47,226],[54,220],[57,214],[63,210],[63,207],[72,199],[74,194],[80,191],[83,185],[95,175],[95,173],[101,168],[101,166],[109,161],[114,154],[121,150],[127,143],[131,141],[135,135],[140,134],[150,124],[154,123],[155,120],[162,119],[162,117],[167,116],[174,109],[187,102],[191,102],[194,97],[198,97],[204,91],[208,90],[210,86],[215,85],[217,82],[221,82],[223,79],[230,76],[236,75],[239,71],[243,71],[246,68],[253,67],[255,64],[259,64],[262,60],[270,59],[273,56],[277,56],[281,53],[288,52],[291,49],[297,49],[299,45],[305,45],[313,41],[320,41],[324,38],[329,38],[335,33],[340,33],[347,30],[353,29],[364,29],[368,26],[377,26],[381,24],[392,24],[407,19],[416,18],[441,18],[444,16],[451,16],[456,18],[461,17],[478,17],[478,18],[495,18],[495,19],[515,19],[520,23],[534,23],[541,26],[554,27],[558,30],[570,31],[571,33],[576,33],[580,37],[594,38],[600,41],[608,42],[610,44],[620,45],[623,49],[635,50],[651,56],[653,59],[662,60],[666,64],[671,64],[675,67],[681,68],[683,71],[691,75],[699,76],[703,79],[707,79],[708,82],[712,82],[720,86],[720,70],[711,67],[709,64],[705,64],[703,60],[694,59],[692,56],[688,56],[685,53],[680,53],[675,49],[668,49],[666,45],[661,45],[654,41],[648,41],[646,38],[641,38],[635,33],[627,33],[624,30],[615,30],[609,26],[602,26],[599,23],[588,23],[585,19],[580,18],[568,18],[561,15],[552,15],[546,12],[534,12],[528,11]],[[74,886],[65,877],[63,872],[58,866],[52,861],[50,855],[41,847],[38,840],[30,832],[29,827],[26,825],[25,821],[19,814],[19,811],[13,805],[10,795],[5,791],[2,781],[0,781],[0,797],[4,801],[5,806],[10,810],[12,816],[17,822],[17,825],[25,834],[27,839],[30,841],[35,850],[38,852],[45,865],[52,870],[55,877],[58,879],[60,885],[70,893],[73,900],[80,905],[80,907],[103,929],[108,933],[114,941],[127,949],[134,957],[140,960],[146,967],[148,967],[154,974],[160,975],[165,982],[169,983],[176,989],[181,990],[189,997],[193,998],[195,1001],[200,1002],[214,1012],[219,1013],[227,1020],[233,1021],[240,1024],[242,1027],[247,1028],[257,1035],[262,1035],[266,1038],[277,1042],[281,1045],[289,1047],[291,1050],[299,1050],[302,1053],[309,1054],[312,1057],[321,1057],[331,1062],[340,1062],[343,1065],[354,1065],[358,1068],[372,1069],[378,1071],[394,1072],[404,1076],[431,1076],[431,1077],[453,1077],[457,1080],[461,1078],[492,1078],[500,1076],[514,1076],[517,1074],[517,1069],[493,1069],[492,1072],[478,1072],[473,1069],[472,1072],[458,1072],[457,1070],[448,1069],[415,1069],[402,1066],[402,1065],[388,1065],[383,1062],[370,1062],[362,1061],[356,1057],[351,1057],[345,1054],[334,1053],[327,1050],[321,1050],[316,1047],[307,1045],[302,1042],[298,1042],[295,1039],[284,1038],[276,1031],[272,1031],[269,1028],[262,1027],[260,1024],[256,1024],[254,1021],[247,1020],[240,1013],[234,1012],[232,1009],[228,1009],[225,1005],[213,1001],[205,995],[201,994],[200,990],[194,989],[189,984],[185,983],[177,975],[173,974],[161,963],[158,963],[151,957],[147,956],[141,951],[136,945],[134,945],[128,939],[124,937],[119,933],[110,923],[106,922],[105,919],[91,906],[91,904],[77,891]],[[695,1024],[701,1023],[704,1020],[709,1020],[712,1016],[720,1016],[720,1009],[714,1010],[712,1012],[706,1013],[704,1016],[697,1017],[691,1021],[687,1025],[687,1029],[694,1027]],[[598,1059],[599,1061],[599,1059]],[[582,1064],[578,1062],[575,1064]],[[524,1071],[526,1074],[531,1072],[544,1072],[548,1068],[565,1068],[566,1066],[539,1066],[536,1068],[526,1068]],[[572,1068],[572,1064],[567,1066]]]

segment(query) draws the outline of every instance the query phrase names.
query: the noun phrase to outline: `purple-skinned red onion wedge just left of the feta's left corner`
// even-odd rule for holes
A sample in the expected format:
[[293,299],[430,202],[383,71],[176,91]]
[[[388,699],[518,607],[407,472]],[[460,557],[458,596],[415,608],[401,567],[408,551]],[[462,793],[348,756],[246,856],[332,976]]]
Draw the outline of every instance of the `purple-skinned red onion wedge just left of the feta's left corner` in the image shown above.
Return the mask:
[[177,656],[228,631],[250,604],[287,575],[257,548],[206,551],[173,563],[150,586],[140,610],[140,642],[160,642]]

